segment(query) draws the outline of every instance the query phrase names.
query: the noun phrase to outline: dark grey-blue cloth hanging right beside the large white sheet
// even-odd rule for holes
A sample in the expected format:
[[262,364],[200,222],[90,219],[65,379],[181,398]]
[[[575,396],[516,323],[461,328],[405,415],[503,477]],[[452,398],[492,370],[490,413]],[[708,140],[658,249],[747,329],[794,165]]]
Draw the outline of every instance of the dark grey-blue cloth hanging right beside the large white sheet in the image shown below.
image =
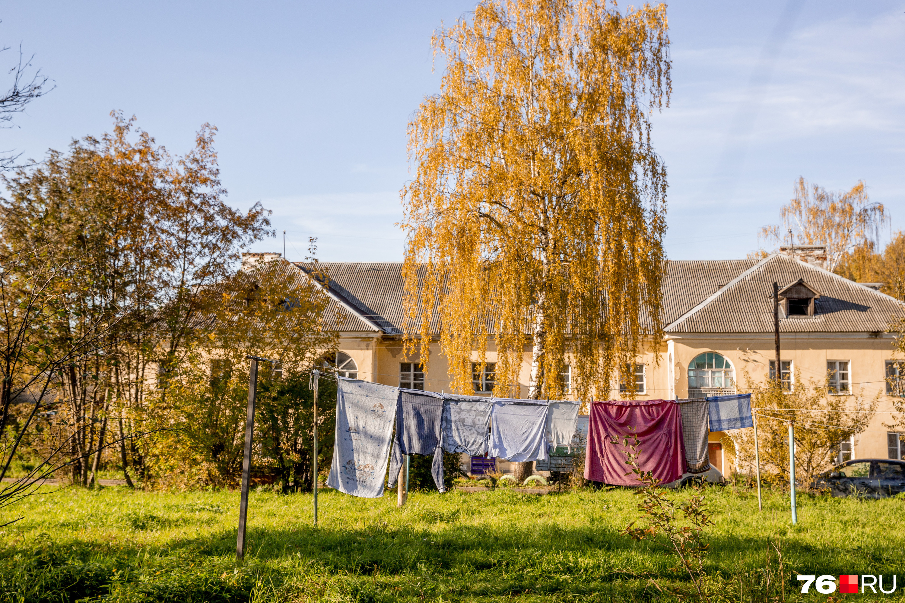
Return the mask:
[[395,487],[405,455],[433,456],[431,475],[440,492],[443,485],[443,448],[441,448],[443,396],[432,391],[400,390],[396,405],[393,456],[387,486]]

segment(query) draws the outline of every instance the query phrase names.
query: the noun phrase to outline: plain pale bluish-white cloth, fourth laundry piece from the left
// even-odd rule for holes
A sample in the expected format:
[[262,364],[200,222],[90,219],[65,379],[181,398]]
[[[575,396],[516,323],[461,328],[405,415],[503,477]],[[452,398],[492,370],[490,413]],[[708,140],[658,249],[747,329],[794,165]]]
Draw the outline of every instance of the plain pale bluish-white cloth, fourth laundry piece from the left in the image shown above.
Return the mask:
[[547,402],[494,398],[491,403],[489,457],[505,458],[515,463],[549,458]]

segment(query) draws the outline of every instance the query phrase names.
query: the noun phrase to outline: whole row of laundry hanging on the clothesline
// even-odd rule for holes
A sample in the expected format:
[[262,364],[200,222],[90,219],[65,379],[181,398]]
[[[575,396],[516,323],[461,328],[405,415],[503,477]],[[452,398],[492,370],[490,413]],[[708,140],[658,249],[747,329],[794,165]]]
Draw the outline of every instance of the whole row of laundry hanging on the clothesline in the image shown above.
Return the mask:
[[[443,492],[443,449],[472,456],[486,452],[512,462],[548,460],[550,449],[571,445],[579,406],[568,400],[442,395],[339,378],[328,485],[350,495],[379,497],[387,462],[389,483],[395,485],[403,457],[422,454],[433,455],[433,479]],[[700,404],[593,402],[585,476],[607,484],[637,485],[633,476],[625,476],[624,447],[611,443],[621,442],[630,427],[640,440],[642,471],[651,471],[663,483],[678,479],[686,469],[702,473],[709,468],[708,423],[716,431],[749,427],[750,421],[749,394],[709,398]]]

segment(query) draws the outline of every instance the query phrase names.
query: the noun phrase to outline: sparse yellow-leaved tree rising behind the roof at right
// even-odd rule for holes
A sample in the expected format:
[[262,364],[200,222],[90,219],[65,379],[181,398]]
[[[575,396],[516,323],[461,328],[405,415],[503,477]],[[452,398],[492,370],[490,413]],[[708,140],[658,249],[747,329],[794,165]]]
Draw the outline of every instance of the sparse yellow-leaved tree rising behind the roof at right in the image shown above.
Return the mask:
[[879,244],[880,229],[889,218],[882,203],[870,200],[867,184],[851,190],[827,191],[804,178],[795,183],[795,197],[779,210],[782,227],[763,227],[758,238],[786,245],[825,245],[826,269],[835,271],[845,257],[866,243]]

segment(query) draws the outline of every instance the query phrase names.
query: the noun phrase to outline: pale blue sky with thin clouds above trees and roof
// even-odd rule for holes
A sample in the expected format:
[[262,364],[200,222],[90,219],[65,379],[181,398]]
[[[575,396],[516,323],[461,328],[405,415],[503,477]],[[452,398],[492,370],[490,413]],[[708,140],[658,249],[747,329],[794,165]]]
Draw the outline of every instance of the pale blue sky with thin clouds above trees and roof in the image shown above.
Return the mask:
[[[121,109],[179,154],[210,122],[229,202],[273,211],[278,239],[256,250],[281,251],[286,230],[289,259],[317,236],[322,259],[398,260],[405,125],[440,79],[431,33],[473,5],[10,3],[0,42],[21,42],[57,88],[0,130],[0,148],[40,158],[109,130]],[[670,258],[757,249],[799,175],[831,189],[863,179],[891,230],[905,228],[905,0],[681,0],[668,12],[672,105],[653,142]]]

